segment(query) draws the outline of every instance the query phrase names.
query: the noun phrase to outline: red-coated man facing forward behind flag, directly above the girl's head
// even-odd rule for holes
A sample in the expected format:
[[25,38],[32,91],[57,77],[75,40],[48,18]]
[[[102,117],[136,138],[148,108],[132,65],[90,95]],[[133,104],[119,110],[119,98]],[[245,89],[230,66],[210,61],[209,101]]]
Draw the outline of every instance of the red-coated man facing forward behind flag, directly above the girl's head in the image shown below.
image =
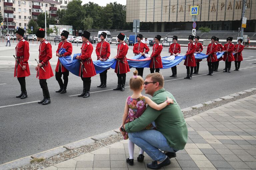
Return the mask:
[[[142,34],[138,34],[137,35],[137,42],[134,43],[133,46],[133,53],[135,55],[141,54],[141,55],[145,55],[145,53],[148,53],[149,51],[149,47],[146,45],[146,43],[142,42]],[[143,77],[143,70],[144,68],[136,68],[136,70],[138,70],[138,75]]]

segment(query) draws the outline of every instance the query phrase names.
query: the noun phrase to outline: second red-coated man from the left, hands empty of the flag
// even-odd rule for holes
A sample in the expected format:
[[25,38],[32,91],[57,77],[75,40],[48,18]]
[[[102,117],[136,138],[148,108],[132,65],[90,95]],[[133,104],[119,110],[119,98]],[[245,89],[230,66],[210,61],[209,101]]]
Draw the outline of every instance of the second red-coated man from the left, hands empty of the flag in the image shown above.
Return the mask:
[[46,80],[53,76],[52,67],[49,60],[52,58],[52,45],[44,39],[45,30],[40,28],[36,32],[39,45],[39,64],[36,66],[36,77],[39,79],[39,84],[43,90],[43,100],[37,103],[48,105],[51,103],[50,94]]

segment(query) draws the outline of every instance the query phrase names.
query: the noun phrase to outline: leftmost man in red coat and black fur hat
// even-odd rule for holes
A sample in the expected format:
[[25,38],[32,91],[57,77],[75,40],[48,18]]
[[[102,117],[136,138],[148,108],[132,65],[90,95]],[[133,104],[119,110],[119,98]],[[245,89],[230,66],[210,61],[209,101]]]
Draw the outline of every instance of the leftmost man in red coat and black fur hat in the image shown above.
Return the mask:
[[[20,83],[21,94],[16,96],[17,98],[25,99],[27,98],[26,90],[26,80],[25,77],[30,75],[28,59],[29,59],[29,44],[23,39],[25,31],[21,28],[18,28],[16,31],[16,37],[19,42],[16,45],[16,58],[18,62],[15,63],[14,68],[14,77],[17,77]],[[18,64],[19,63],[19,64]]]

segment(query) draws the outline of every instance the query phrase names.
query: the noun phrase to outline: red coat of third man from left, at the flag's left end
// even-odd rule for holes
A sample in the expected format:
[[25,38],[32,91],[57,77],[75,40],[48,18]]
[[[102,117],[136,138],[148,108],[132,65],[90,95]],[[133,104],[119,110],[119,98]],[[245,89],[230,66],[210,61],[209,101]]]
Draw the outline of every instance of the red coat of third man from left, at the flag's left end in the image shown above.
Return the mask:
[[[66,57],[68,55],[72,54],[72,50],[73,50],[73,46],[71,44],[71,42],[68,42],[67,40],[60,42],[58,45],[58,49],[56,51],[56,54],[59,53],[60,48],[65,48],[67,52],[65,52],[64,54],[61,54],[62,57]],[[57,56],[57,55],[56,55]],[[58,59],[55,71],[59,72],[59,66],[61,65],[61,72],[66,72],[68,71],[60,62],[60,60]]]

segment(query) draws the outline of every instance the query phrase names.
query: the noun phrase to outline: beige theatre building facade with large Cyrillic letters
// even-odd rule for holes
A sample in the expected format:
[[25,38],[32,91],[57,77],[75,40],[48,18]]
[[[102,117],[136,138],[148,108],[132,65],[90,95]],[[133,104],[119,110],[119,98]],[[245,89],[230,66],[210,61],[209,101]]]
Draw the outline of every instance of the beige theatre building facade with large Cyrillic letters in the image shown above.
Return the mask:
[[[197,28],[238,30],[243,0],[127,0],[126,22],[139,19],[150,24],[150,31],[169,32],[192,29],[191,6],[199,6]],[[247,0],[247,32],[256,32],[256,1]]]

